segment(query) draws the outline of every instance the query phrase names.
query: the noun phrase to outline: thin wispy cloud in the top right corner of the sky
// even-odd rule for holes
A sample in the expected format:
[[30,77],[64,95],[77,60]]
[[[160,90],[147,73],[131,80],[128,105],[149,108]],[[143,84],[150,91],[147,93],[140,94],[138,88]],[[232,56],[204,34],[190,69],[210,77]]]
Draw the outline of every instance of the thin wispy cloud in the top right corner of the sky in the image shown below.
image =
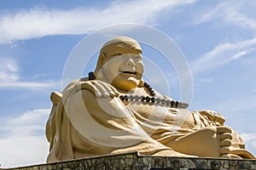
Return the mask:
[[207,10],[196,17],[194,24],[201,24],[211,20],[222,20],[230,25],[241,26],[252,30],[256,29],[255,3],[252,1],[221,1],[212,10]]

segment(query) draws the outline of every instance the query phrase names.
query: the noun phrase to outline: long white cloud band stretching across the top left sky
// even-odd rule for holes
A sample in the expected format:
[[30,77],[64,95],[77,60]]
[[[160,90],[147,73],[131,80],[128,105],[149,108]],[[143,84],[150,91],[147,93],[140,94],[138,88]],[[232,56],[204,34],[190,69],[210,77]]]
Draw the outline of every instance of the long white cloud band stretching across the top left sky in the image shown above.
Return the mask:
[[2,14],[0,43],[48,35],[84,34],[124,22],[154,25],[163,11],[170,13],[172,8],[193,2],[195,1],[115,1],[103,9],[32,8],[15,14]]

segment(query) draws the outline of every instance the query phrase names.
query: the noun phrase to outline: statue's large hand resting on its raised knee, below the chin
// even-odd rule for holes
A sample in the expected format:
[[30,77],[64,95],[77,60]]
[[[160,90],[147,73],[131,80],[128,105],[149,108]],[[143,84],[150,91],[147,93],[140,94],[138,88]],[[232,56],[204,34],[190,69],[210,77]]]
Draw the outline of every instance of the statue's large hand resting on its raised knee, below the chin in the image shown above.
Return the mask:
[[89,90],[96,98],[118,97],[119,92],[111,84],[99,80],[80,82],[76,87],[78,90]]

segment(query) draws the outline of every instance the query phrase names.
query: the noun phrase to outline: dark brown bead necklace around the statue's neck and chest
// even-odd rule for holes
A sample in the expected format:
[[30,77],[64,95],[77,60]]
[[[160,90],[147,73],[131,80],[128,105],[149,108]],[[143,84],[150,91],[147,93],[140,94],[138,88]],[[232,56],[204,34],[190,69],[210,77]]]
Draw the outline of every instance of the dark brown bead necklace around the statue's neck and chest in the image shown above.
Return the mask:
[[[89,80],[95,80],[95,76],[93,72],[89,72]],[[154,97],[154,89],[150,87],[147,82],[144,82],[143,88],[150,96],[138,96],[138,95],[119,95],[119,99],[122,101],[141,101],[143,103],[151,103],[151,104],[159,104],[165,105],[167,107],[176,108],[176,109],[186,109],[189,107],[189,104],[179,102],[171,99],[160,99]]]

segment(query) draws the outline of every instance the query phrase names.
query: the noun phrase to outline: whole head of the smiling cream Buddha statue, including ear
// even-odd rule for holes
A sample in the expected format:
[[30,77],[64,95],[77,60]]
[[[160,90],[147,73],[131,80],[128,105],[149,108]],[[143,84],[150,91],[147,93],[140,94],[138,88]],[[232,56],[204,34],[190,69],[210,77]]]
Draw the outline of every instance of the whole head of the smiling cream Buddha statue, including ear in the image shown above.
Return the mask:
[[114,37],[106,42],[97,61],[97,80],[120,90],[137,88],[142,82],[144,65],[142,48],[131,37]]

